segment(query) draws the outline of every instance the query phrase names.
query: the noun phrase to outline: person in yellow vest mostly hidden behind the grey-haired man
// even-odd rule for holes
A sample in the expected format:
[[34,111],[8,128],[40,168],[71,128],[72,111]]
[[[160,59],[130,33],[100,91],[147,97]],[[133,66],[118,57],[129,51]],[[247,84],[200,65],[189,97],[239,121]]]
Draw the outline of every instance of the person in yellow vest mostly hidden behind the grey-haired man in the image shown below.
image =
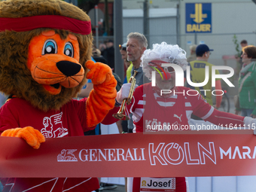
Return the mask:
[[125,66],[125,72],[124,72],[125,75],[124,75],[123,84],[126,84],[131,77],[133,62],[127,60],[126,43],[122,45],[119,44],[119,49],[120,49],[120,54],[122,56],[123,63]]

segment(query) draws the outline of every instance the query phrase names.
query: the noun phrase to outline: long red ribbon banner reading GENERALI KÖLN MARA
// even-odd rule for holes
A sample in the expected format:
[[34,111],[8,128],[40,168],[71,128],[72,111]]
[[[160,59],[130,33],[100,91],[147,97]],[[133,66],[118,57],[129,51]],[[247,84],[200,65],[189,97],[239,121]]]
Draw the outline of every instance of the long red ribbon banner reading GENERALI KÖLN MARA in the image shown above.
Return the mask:
[[251,130],[212,133],[65,137],[46,139],[38,150],[23,139],[0,137],[0,177],[255,175]]

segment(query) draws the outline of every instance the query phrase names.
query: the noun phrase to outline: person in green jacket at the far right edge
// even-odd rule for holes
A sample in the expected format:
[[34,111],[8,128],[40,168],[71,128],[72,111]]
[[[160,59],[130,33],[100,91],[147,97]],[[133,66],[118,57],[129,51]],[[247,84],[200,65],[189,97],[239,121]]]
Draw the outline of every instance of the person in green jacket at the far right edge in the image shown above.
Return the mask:
[[256,117],[256,47],[242,48],[242,69],[239,72],[239,108],[235,113]]

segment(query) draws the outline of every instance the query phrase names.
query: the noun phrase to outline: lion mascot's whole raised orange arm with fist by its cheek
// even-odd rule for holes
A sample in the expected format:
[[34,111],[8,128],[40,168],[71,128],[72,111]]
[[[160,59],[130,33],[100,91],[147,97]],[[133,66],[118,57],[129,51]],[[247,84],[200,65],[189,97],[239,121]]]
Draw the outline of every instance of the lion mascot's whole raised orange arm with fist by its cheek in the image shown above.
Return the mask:
[[93,61],[87,61],[85,65],[90,69],[87,78],[93,82],[93,90],[87,99],[87,125],[93,127],[104,119],[111,108],[114,108],[117,81],[109,66]]

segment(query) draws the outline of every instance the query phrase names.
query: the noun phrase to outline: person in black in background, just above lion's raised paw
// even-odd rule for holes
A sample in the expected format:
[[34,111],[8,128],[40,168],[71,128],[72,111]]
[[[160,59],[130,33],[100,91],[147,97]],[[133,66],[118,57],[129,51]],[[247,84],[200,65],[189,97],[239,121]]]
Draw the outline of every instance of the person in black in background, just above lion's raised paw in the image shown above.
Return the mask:
[[114,72],[114,42],[113,40],[109,39],[106,43],[106,48],[101,50],[102,56],[107,60],[108,66]]

